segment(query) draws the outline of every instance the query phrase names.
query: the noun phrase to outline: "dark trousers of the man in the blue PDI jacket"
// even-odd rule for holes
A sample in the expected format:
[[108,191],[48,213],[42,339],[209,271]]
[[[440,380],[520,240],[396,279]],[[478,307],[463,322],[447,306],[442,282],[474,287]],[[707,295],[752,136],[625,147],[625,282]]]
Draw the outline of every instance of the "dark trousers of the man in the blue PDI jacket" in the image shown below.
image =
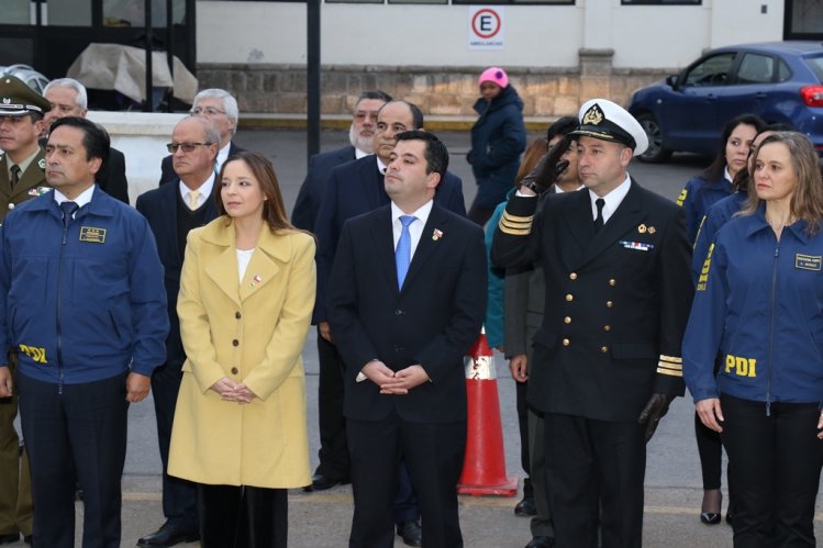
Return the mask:
[[84,548],[119,548],[120,481],[129,403],[125,377],[81,384],[37,381],[18,372],[20,417],[29,450],[34,544],[75,545],[75,488],[84,491]]

